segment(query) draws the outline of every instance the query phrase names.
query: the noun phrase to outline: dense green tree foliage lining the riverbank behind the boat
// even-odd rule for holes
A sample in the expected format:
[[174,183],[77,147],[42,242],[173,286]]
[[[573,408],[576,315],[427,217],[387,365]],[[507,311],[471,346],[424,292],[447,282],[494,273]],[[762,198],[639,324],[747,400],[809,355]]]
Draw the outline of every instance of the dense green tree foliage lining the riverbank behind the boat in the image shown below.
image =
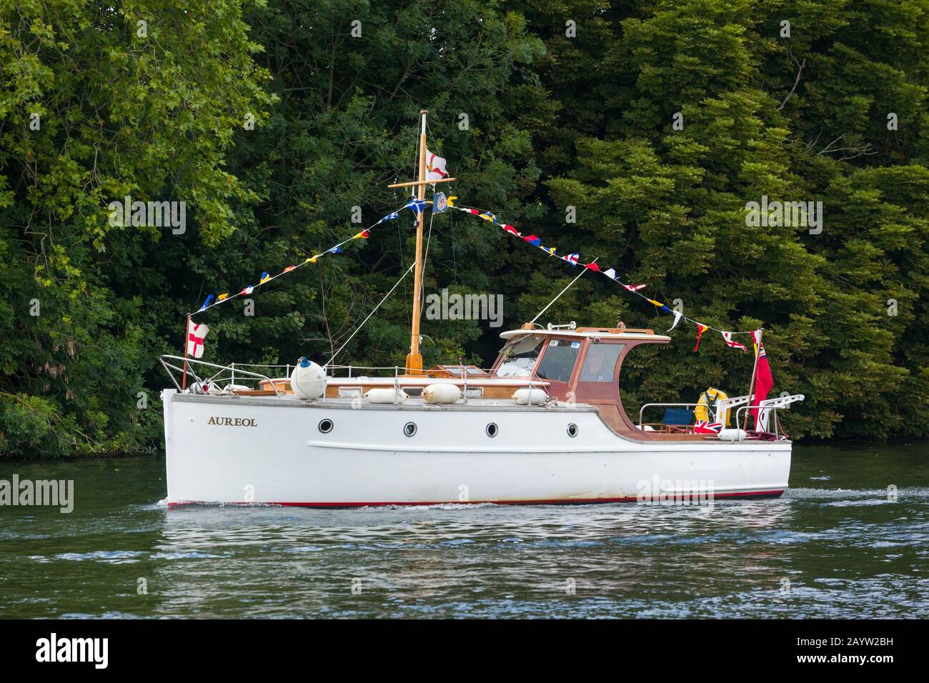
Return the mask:
[[[714,327],[764,324],[774,392],[807,397],[793,434],[929,431],[926,0],[191,5],[0,0],[0,454],[159,449],[185,313],[403,204],[420,109],[461,204]],[[184,201],[187,230],[113,225],[125,195]],[[747,226],[763,196],[822,202],[822,231]],[[507,327],[577,274],[459,212],[427,230],[425,293],[502,293]],[[254,316],[207,311],[207,359],[328,360],[413,244],[404,212]],[[402,362],[411,284],[337,361]],[[546,316],[672,320],[593,274]],[[499,331],[425,320],[425,362],[486,365]],[[630,359],[627,410],[747,390],[751,354],[671,334]]]

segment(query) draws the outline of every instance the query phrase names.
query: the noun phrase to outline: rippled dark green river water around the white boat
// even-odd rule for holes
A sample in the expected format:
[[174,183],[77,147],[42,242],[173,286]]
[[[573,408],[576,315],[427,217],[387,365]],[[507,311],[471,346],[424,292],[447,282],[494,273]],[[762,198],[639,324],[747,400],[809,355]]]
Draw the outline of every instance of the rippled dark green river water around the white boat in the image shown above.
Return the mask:
[[[929,617],[929,444],[794,448],[776,500],[168,511],[164,458],[0,462],[4,617]],[[896,487],[896,500],[893,489]]]

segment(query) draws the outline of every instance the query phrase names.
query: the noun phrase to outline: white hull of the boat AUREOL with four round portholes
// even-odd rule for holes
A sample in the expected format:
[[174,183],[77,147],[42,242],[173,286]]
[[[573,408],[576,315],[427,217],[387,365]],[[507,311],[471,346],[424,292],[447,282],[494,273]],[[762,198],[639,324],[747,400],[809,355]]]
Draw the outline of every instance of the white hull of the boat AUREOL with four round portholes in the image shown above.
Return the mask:
[[[783,493],[791,468],[789,441],[630,440],[587,406],[305,404],[174,390],[162,398],[171,506],[762,497]],[[323,420],[332,421],[327,433]]]

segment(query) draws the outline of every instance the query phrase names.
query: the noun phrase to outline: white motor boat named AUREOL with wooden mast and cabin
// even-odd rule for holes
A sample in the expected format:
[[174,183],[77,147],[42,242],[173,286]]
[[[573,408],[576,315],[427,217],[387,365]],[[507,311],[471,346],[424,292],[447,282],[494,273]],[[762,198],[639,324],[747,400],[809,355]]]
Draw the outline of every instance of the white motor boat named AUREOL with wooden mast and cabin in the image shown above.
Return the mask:
[[[622,403],[622,366],[639,347],[672,341],[652,329],[532,321],[500,335],[489,368],[423,367],[425,188],[454,180],[428,173],[425,116],[418,179],[397,185],[422,203],[405,366],[302,358],[281,373],[162,356],[174,384],[162,392],[168,506],[702,504],[784,493],[792,440],[778,410],[804,397],[715,391],[699,406],[647,403],[634,420]],[[188,316],[191,338],[197,327]],[[760,333],[755,341],[757,367]],[[691,424],[694,408],[712,423]],[[661,421],[645,422],[647,411]]]

